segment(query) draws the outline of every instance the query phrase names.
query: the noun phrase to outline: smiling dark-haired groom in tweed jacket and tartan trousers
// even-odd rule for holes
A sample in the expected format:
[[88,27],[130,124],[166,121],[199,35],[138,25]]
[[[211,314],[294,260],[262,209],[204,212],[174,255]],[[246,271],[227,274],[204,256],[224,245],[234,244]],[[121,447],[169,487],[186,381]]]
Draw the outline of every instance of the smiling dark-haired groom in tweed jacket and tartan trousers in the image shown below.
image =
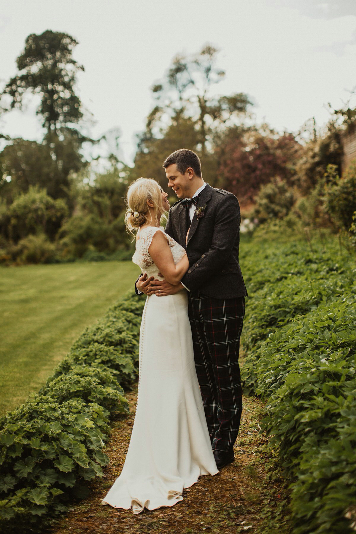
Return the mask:
[[180,199],[169,210],[165,232],[186,249],[189,269],[178,286],[144,275],[136,287],[157,296],[188,290],[196,374],[221,468],[234,460],[242,412],[239,341],[247,291],[239,265],[240,206],[232,193],[204,182],[195,152],[176,150],[163,167]]

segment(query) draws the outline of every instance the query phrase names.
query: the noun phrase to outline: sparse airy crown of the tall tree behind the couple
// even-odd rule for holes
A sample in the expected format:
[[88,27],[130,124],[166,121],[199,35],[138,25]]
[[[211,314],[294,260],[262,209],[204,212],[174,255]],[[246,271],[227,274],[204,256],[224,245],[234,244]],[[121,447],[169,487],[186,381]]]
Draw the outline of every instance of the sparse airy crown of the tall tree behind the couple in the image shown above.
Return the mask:
[[212,133],[221,125],[233,124],[239,116],[246,116],[251,105],[245,93],[216,96],[213,87],[225,77],[216,66],[218,49],[207,44],[192,56],[176,56],[165,79],[153,85],[156,105],[147,117],[145,136],[139,150],[153,137],[162,137],[172,119],[190,118],[195,123],[196,145],[204,156]]

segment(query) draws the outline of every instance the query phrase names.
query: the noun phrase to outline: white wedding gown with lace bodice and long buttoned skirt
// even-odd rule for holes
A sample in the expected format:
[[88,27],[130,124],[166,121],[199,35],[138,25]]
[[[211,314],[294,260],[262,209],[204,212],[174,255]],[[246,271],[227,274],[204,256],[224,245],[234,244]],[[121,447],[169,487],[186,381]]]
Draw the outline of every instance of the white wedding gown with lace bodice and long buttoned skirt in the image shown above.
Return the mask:
[[[148,253],[156,231],[140,230],[132,257],[147,277],[159,276]],[[168,234],[178,263],[185,250]],[[125,464],[101,504],[153,510],[182,500],[200,475],[218,473],[196,378],[187,292],[147,297],[140,329],[135,422]]]

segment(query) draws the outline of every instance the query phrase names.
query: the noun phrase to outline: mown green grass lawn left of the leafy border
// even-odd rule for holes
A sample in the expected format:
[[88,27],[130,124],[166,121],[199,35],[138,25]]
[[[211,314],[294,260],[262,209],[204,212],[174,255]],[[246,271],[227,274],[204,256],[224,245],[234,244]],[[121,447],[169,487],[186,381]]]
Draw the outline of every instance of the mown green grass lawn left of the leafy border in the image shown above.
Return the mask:
[[131,262],[0,268],[0,414],[38,391],[138,274]]

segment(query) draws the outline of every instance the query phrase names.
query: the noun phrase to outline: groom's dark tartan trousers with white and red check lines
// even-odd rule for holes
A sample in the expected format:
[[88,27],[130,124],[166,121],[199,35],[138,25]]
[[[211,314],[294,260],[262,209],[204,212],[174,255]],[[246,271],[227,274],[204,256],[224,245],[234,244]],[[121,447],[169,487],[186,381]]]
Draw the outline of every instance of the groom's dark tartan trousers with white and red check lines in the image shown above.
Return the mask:
[[189,293],[194,360],[213,450],[230,452],[242,412],[239,367],[244,297],[213,299]]

